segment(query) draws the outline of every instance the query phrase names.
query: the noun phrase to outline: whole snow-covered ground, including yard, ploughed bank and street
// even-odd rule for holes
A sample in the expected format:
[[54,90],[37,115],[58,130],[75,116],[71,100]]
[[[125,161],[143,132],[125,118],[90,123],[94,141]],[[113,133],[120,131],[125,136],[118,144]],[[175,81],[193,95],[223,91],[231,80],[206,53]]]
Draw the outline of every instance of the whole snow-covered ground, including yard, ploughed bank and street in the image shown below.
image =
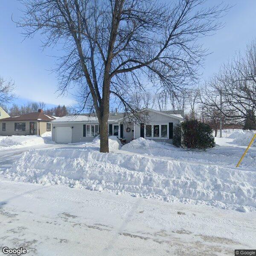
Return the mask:
[[143,138],[121,148],[115,137],[109,154],[99,152],[98,138],[0,149],[1,245],[26,244],[38,255],[73,255],[72,248],[78,255],[253,249],[256,147],[235,167],[252,136],[227,130],[207,151]]

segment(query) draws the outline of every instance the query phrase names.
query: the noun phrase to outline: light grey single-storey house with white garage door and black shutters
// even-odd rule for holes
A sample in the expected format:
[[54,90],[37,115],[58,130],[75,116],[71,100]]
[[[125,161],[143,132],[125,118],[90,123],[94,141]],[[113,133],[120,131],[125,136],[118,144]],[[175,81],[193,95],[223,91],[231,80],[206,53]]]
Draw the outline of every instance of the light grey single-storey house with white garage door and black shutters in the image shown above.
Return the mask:
[[[125,122],[124,113],[109,113],[108,134],[130,142],[144,137],[172,143],[173,127],[183,121],[184,111],[156,111],[144,109],[147,122]],[[95,114],[64,116],[52,122],[52,140],[56,143],[90,142],[99,134],[99,122]]]

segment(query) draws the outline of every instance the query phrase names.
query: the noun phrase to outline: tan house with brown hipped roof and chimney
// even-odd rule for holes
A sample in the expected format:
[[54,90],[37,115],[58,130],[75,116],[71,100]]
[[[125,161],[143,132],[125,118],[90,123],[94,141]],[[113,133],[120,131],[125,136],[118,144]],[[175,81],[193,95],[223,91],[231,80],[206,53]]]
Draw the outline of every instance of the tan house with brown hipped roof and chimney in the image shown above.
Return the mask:
[[49,123],[52,120],[55,118],[44,114],[42,109],[38,109],[38,112],[3,118],[0,119],[0,135],[41,135],[52,130]]

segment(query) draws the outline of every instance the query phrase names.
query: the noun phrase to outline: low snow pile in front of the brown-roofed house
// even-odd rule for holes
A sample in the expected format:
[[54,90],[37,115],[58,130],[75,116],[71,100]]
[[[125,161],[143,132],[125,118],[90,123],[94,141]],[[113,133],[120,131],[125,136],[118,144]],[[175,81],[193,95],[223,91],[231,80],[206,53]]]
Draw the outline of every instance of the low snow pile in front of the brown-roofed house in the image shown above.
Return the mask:
[[0,148],[17,148],[29,145],[44,144],[44,139],[38,135],[0,136]]

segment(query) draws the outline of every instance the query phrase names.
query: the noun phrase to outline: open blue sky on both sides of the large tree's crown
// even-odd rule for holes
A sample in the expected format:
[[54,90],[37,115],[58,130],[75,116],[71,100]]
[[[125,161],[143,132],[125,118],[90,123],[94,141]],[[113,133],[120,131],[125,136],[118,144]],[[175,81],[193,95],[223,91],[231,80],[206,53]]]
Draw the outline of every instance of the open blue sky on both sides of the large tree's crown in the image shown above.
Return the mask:
[[[207,5],[216,3],[233,5],[222,18],[223,29],[214,35],[202,38],[204,47],[211,52],[202,68],[202,80],[218,72],[222,63],[246,44],[256,38],[256,1],[255,0],[208,0]],[[75,103],[71,93],[58,96],[58,79],[51,70],[55,68],[55,49],[42,50],[41,35],[23,41],[21,29],[12,21],[21,16],[22,5],[17,0],[0,0],[0,76],[15,81],[15,103],[43,101],[48,106],[70,105]]]

